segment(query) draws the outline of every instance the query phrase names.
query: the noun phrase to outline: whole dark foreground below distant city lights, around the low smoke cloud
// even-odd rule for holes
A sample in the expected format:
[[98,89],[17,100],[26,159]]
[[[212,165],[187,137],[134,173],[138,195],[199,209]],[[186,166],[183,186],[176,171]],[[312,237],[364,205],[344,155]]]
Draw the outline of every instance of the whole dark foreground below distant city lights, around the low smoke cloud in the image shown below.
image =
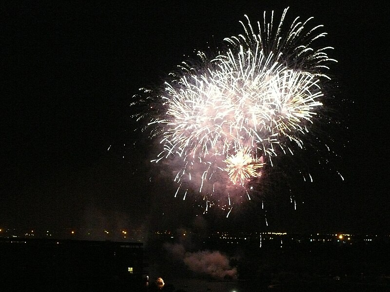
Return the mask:
[[214,246],[231,256],[236,279],[196,274],[139,243],[0,238],[0,291],[148,292],[162,276],[171,292],[390,291],[387,241],[376,245]]

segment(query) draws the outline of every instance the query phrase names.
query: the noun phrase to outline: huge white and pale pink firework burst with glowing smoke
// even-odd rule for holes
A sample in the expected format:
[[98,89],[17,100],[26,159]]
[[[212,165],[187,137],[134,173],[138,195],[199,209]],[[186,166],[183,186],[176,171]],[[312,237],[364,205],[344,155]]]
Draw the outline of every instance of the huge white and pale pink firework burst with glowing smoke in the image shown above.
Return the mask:
[[295,18],[286,32],[287,10],[277,25],[273,12],[269,22],[264,12],[256,33],[245,16],[245,34],[225,38],[224,51],[183,62],[160,96],[144,90],[149,95],[137,104],[147,110],[137,119],[148,119],[145,128],[160,137],[152,161],[179,165],[175,196],[181,187],[186,196],[189,186],[207,198],[248,194],[264,164],[303,147],[323,107],[322,80],[330,79],[324,71],[335,60],[326,53],[331,47],[312,49],[326,33],[317,33],[322,25],[307,29],[311,18]]

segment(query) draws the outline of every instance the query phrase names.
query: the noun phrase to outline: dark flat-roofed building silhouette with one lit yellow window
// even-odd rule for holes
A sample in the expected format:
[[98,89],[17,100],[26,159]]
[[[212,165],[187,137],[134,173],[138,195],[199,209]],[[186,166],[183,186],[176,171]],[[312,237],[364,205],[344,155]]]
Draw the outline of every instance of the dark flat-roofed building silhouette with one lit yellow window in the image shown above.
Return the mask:
[[142,291],[141,243],[0,238],[0,291]]

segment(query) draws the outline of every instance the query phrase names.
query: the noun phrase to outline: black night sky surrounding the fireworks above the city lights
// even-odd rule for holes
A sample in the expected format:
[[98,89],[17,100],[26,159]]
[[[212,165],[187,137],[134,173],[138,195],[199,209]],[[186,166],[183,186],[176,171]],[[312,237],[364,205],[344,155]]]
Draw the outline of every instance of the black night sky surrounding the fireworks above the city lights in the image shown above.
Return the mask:
[[[2,2],[0,227],[195,224],[193,201],[174,199],[170,181],[153,179],[148,148],[128,146],[131,96],[161,84],[183,55],[241,33],[244,14],[261,20],[273,9],[276,21],[287,4],[273,2]],[[335,136],[345,181],[320,176],[300,189],[296,211],[280,196],[268,229],[390,232],[388,13],[341,2],[294,1],[288,16],[313,16],[335,47],[332,94],[346,100],[335,110],[349,128]],[[265,228],[256,208],[204,219],[221,229]]]

